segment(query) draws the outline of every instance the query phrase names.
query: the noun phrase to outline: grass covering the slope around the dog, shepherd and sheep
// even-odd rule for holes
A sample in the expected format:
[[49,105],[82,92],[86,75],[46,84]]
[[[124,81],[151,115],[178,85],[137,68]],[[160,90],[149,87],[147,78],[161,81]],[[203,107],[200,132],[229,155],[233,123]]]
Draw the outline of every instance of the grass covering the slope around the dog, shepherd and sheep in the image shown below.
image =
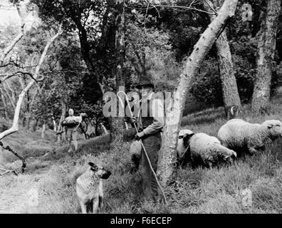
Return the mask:
[[[267,119],[281,120],[281,117],[281,97],[271,101],[266,115],[253,115],[249,105],[244,106],[241,113],[241,118],[251,123],[262,123]],[[216,136],[224,123],[226,120],[222,108],[209,109],[185,116],[182,128]],[[26,194],[24,187],[37,186],[40,199],[38,206],[21,207],[21,212],[80,213],[75,180],[86,169],[87,162],[93,161],[100,162],[113,173],[104,182],[103,213],[282,213],[282,139],[268,145],[266,152],[241,158],[235,165],[211,170],[202,167],[194,170],[190,167],[179,168],[174,184],[164,189],[169,204],[156,206],[143,200],[141,170],[133,175],[128,172],[130,142],[125,142],[122,147],[110,146],[108,136],[103,136],[80,142],[78,152],[74,154],[68,154],[68,146],[63,146],[58,147],[55,153],[42,157],[41,148],[45,150],[46,146],[50,150],[56,146],[54,136],[50,133],[49,142],[45,142],[36,136],[37,133],[34,134],[24,135],[22,139],[17,138],[16,134],[11,135],[14,143],[40,148],[37,148],[36,154],[33,147],[30,150],[23,147],[23,153],[33,157],[28,160],[26,174],[0,177],[0,196],[2,202],[6,200],[4,208],[7,208],[7,199],[14,202],[15,197],[21,198]],[[13,159],[5,162],[6,166],[20,167],[19,162]],[[40,185],[36,185],[36,178],[41,179]],[[242,204],[242,191],[245,189],[252,192],[251,207]],[[10,211],[13,212],[13,209],[10,208]]]

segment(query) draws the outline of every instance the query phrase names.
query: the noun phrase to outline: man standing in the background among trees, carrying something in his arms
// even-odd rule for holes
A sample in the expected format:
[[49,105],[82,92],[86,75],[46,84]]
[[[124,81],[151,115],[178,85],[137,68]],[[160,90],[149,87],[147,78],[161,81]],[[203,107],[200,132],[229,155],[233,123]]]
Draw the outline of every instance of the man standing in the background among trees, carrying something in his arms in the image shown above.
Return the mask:
[[74,151],[78,150],[78,127],[80,123],[82,122],[81,116],[74,116],[73,115],[73,109],[68,110],[68,117],[64,120],[65,126],[66,126],[66,136],[68,138],[68,142],[70,145],[70,148],[68,152],[72,151],[72,142],[74,146]]

